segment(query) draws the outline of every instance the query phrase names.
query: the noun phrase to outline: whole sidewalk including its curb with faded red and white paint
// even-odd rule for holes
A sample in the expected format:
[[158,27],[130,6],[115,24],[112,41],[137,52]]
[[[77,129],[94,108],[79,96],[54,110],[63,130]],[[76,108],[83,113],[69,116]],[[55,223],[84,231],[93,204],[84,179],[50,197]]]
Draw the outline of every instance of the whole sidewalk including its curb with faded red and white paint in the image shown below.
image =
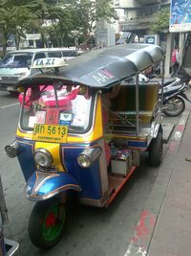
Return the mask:
[[124,256],[191,256],[191,162],[185,160],[191,156],[190,105],[163,155]]

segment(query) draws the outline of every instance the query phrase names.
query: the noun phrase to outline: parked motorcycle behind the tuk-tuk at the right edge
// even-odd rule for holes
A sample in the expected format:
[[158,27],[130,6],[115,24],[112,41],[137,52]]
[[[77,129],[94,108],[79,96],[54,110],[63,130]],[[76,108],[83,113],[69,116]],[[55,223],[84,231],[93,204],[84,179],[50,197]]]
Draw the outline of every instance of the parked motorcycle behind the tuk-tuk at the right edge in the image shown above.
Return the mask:
[[[175,81],[164,83],[163,87],[163,107],[162,111],[167,116],[178,116],[185,109],[184,100],[191,103],[191,101],[184,94],[189,88],[186,81],[177,78]],[[159,91],[161,94],[161,90]]]

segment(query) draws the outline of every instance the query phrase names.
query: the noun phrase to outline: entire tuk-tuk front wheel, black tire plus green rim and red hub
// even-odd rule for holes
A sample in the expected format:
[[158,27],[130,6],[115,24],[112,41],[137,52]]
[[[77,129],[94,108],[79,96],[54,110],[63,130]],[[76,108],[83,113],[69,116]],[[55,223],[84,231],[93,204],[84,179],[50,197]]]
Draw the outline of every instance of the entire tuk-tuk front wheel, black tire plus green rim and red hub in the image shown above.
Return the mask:
[[29,221],[29,236],[32,244],[48,249],[61,239],[66,221],[65,205],[60,198],[38,201]]

